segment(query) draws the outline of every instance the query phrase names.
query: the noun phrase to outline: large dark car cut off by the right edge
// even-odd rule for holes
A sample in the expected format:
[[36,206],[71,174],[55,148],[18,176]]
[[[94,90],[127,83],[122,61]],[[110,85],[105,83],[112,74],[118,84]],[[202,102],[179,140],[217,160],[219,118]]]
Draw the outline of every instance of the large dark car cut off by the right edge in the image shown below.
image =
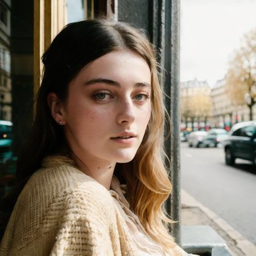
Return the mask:
[[256,164],[256,120],[233,125],[223,144],[226,164],[233,165],[236,158]]

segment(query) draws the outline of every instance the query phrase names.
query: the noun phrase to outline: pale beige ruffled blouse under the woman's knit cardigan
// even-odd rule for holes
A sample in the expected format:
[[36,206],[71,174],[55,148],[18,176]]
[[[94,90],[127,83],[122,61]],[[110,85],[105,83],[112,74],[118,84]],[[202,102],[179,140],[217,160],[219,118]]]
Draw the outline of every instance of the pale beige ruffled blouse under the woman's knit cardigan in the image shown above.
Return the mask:
[[[110,185],[110,194],[114,197],[114,202],[120,210],[122,217],[125,219],[135,244],[137,245],[141,254],[139,256],[168,256],[166,251],[159,245],[157,245],[150,236],[147,235],[146,230],[143,228],[139,218],[130,210],[130,205],[127,202],[124,194],[125,186],[119,183],[117,177],[113,175],[113,179]],[[187,254],[184,251],[184,255]]]

